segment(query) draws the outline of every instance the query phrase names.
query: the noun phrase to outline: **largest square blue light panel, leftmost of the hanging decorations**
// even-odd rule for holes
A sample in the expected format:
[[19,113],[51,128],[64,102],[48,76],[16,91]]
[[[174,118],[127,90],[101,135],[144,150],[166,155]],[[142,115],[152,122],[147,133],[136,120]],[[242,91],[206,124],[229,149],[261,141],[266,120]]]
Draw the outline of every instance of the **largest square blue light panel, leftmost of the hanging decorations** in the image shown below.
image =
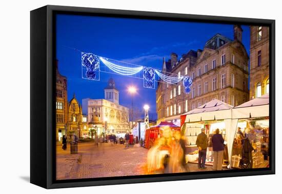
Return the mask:
[[82,52],[83,78],[89,80],[99,80],[100,60],[97,55]]

